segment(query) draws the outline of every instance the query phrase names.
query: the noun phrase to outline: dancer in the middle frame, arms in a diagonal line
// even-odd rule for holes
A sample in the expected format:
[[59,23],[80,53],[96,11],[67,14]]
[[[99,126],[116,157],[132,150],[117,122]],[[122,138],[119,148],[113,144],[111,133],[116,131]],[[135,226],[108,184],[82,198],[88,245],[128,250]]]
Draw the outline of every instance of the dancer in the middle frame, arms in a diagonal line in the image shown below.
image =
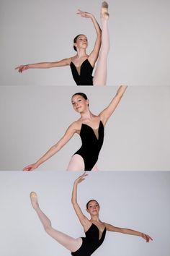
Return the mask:
[[65,135],[59,140],[53,147],[48,150],[45,155],[42,156],[36,163],[33,163],[24,168],[24,171],[32,171],[41,163],[45,162],[52,155],[63,148],[68,140],[73,137],[75,133],[81,136],[82,146],[71,157],[71,161],[68,165],[68,171],[91,171],[96,170],[99,151],[102,148],[104,138],[104,127],[115,111],[123,93],[125,93],[127,86],[122,85],[117,90],[115,97],[109,103],[109,106],[105,108],[98,116],[91,113],[89,110],[89,100],[84,93],[76,93],[72,96],[71,101],[73,108],[78,112],[81,117],[77,121],[74,121],[66,130]]

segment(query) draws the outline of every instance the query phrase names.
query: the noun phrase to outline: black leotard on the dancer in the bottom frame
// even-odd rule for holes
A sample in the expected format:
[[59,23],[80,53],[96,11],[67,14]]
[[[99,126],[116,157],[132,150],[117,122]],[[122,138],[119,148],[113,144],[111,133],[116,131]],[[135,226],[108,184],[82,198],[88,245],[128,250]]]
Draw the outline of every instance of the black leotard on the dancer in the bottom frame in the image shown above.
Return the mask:
[[99,239],[99,229],[94,223],[91,224],[88,231],[86,231],[86,237],[81,237],[83,242],[81,247],[76,252],[71,252],[73,256],[90,256],[97,248],[100,247],[104,241],[106,228],[104,229],[101,238]]

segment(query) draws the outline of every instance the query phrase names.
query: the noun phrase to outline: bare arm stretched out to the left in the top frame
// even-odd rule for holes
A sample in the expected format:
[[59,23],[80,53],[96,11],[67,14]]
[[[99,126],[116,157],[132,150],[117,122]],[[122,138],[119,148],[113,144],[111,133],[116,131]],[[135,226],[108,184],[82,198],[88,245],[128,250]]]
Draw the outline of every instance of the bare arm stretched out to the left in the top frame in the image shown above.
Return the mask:
[[71,63],[71,58],[68,58],[68,59],[62,59],[61,61],[55,61],[55,62],[40,62],[40,63],[34,63],[34,64],[20,65],[15,69],[18,69],[18,72],[22,73],[22,71],[27,69],[49,69],[50,67],[67,66],[70,63]]

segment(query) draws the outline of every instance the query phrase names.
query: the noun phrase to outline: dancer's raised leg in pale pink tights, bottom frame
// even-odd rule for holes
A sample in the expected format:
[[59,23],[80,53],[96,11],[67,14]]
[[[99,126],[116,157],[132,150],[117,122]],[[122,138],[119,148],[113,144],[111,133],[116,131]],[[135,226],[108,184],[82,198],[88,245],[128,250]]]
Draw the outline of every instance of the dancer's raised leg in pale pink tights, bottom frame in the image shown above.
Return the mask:
[[82,239],[73,239],[71,236],[68,236],[66,234],[63,234],[61,231],[53,229],[49,218],[45,216],[45,213],[42,212],[38,205],[37,194],[35,192],[30,193],[30,199],[32,207],[35,209],[37,216],[40,218],[40,221],[42,222],[45,231],[51,237],[53,237],[53,239],[62,244],[63,247],[66,247],[66,249],[69,249],[71,252],[76,252],[76,250],[81,247]]

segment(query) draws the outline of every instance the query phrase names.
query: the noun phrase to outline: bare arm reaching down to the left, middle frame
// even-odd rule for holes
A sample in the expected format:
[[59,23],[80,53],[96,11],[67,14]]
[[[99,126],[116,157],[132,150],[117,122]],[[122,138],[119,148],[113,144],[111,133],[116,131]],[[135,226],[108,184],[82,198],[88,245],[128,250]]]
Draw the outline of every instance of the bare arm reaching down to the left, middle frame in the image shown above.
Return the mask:
[[59,140],[55,145],[53,145],[42,157],[35,163],[30,164],[29,166],[24,167],[23,171],[33,171],[35,168],[40,166],[40,164],[47,161],[51,158],[55,153],[57,153],[63,146],[68,142],[68,140],[73,137],[74,133],[76,132],[76,125],[73,123],[71,124],[68,129],[66,130],[65,135]]

